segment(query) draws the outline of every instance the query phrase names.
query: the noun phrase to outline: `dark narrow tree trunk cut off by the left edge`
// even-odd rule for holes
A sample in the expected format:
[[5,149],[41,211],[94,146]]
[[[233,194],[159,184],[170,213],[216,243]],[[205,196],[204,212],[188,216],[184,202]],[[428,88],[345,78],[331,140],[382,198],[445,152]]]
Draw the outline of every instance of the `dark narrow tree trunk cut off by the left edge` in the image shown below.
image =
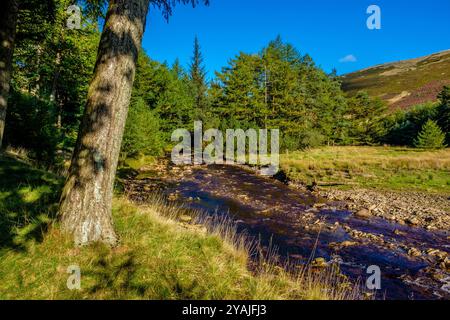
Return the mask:
[[12,72],[14,42],[16,38],[17,0],[4,0],[0,10],[0,148],[5,130],[6,108]]

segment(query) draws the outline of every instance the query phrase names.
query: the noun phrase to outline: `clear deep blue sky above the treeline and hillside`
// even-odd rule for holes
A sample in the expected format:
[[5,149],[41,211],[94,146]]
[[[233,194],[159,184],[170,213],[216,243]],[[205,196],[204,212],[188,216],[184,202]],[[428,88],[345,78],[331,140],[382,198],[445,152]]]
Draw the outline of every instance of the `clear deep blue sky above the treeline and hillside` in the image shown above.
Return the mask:
[[[187,66],[199,37],[209,76],[240,51],[258,52],[277,35],[327,72],[347,73],[450,49],[450,0],[211,0],[178,5],[167,23],[151,8],[143,47],[155,60]],[[381,8],[381,30],[366,27]],[[340,61],[353,55],[356,60]]]

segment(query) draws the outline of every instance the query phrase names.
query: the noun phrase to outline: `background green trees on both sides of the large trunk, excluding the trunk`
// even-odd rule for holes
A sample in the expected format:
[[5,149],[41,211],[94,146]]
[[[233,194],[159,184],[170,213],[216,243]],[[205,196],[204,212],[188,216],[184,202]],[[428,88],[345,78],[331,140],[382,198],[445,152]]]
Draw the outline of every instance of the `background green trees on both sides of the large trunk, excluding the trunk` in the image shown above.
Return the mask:
[[[26,0],[18,18],[5,144],[23,147],[48,164],[70,158],[100,38],[89,15],[80,30],[66,28],[69,4]],[[440,148],[450,145],[449,96],[444,88],[440,103],[389,112],[365,92],[346,96],[336,72],[325,73],[280,37],[258,53],[239,53],[210,80],[195,39],[186,69],[179,61],[168,65],[140,52],[121,157],[161,155],[171,133],[192,129],[196,120],[222,130],[279,128],[283,151],[321,145],[427,147],[418,142],[425,129],[424,141]],[[433,123],[424,128],[429,120]]]

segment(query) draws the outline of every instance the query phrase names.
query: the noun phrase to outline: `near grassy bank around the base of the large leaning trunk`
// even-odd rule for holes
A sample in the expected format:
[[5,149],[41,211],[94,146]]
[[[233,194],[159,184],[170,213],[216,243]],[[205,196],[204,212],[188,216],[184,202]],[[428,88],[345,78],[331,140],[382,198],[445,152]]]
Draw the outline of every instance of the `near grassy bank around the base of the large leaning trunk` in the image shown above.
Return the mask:
[[[252,262],[249,244],[155,198],[114,200],[120,246],[74,248],[55,220],[61,179],[0,155],[0,299],[353,299],[333,270]],[[183,222],[184,221],[184,222]],[[200,224],[201,223],[201,224]],[[79,266],[81,289],[67,288]]]

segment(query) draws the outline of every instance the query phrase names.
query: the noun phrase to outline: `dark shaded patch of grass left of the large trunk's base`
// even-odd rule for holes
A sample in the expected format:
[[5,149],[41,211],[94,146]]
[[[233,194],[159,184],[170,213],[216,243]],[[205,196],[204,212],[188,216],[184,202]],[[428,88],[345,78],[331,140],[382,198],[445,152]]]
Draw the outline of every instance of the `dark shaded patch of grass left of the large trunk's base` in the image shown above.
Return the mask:
[[0,250],[41,242],[55,220],[63,180],[0,154]]

